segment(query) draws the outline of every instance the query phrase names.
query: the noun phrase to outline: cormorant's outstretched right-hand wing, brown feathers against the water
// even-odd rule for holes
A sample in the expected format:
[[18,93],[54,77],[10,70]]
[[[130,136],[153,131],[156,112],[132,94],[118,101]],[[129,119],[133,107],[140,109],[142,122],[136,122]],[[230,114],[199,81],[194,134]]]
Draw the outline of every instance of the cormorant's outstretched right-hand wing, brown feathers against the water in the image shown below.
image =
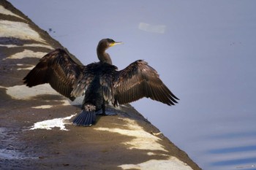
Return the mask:
[[174,105],[178,98],[159,79],[159,74],[145,61],[135,61],[116,74],[115,104],[127,104],[147,97],[167,105]]

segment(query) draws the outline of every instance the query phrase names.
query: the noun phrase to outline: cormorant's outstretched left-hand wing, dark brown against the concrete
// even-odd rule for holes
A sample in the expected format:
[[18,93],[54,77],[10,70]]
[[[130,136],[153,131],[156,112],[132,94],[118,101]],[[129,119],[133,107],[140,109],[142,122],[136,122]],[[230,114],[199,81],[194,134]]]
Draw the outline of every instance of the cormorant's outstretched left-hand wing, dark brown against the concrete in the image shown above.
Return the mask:
[[70,93],[75,82],[83,74],[83,67],[75,63],[65,50],[56,49],[42,57],[23,80],[29,87],[49,83],[63,96],[74,100],[75,97]]

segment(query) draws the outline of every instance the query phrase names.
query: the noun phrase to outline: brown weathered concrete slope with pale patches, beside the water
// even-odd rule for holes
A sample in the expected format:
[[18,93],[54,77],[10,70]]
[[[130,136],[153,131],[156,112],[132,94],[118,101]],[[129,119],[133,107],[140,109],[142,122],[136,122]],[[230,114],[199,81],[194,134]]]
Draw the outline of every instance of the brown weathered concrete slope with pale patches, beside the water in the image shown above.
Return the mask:
[[79,105],[49,85],[23,85],[56,47],[59,42],[0,1],[0,169],[200,169],[129,105],[109,107],[118,115],[97,117],[94,126],[76,127],[70,122]]

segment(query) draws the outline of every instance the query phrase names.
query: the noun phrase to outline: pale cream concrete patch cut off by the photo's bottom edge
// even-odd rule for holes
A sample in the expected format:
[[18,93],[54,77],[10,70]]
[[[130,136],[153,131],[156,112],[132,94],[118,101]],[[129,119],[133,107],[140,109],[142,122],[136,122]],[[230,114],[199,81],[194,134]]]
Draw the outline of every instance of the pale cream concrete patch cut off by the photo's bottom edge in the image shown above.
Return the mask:
[[121,169],[142,169],[142,170],[155,170],[155,169],[175,169],[175,170],[192,170],[182,161],[175,157],[170,157],[167,160],[149,160],[139,164],[124,164],[120,165]]

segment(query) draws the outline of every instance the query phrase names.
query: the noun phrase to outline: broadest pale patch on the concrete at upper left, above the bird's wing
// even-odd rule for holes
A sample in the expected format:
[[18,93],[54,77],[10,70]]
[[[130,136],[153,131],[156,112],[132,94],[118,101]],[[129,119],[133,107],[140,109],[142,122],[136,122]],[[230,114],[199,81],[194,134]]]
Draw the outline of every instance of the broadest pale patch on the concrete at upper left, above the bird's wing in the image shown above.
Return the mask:
[[0,37],[15,37],[18,39],[32,39],[45,43],[37,31],[34,31],[29,24],[10,20],[0,20]]

